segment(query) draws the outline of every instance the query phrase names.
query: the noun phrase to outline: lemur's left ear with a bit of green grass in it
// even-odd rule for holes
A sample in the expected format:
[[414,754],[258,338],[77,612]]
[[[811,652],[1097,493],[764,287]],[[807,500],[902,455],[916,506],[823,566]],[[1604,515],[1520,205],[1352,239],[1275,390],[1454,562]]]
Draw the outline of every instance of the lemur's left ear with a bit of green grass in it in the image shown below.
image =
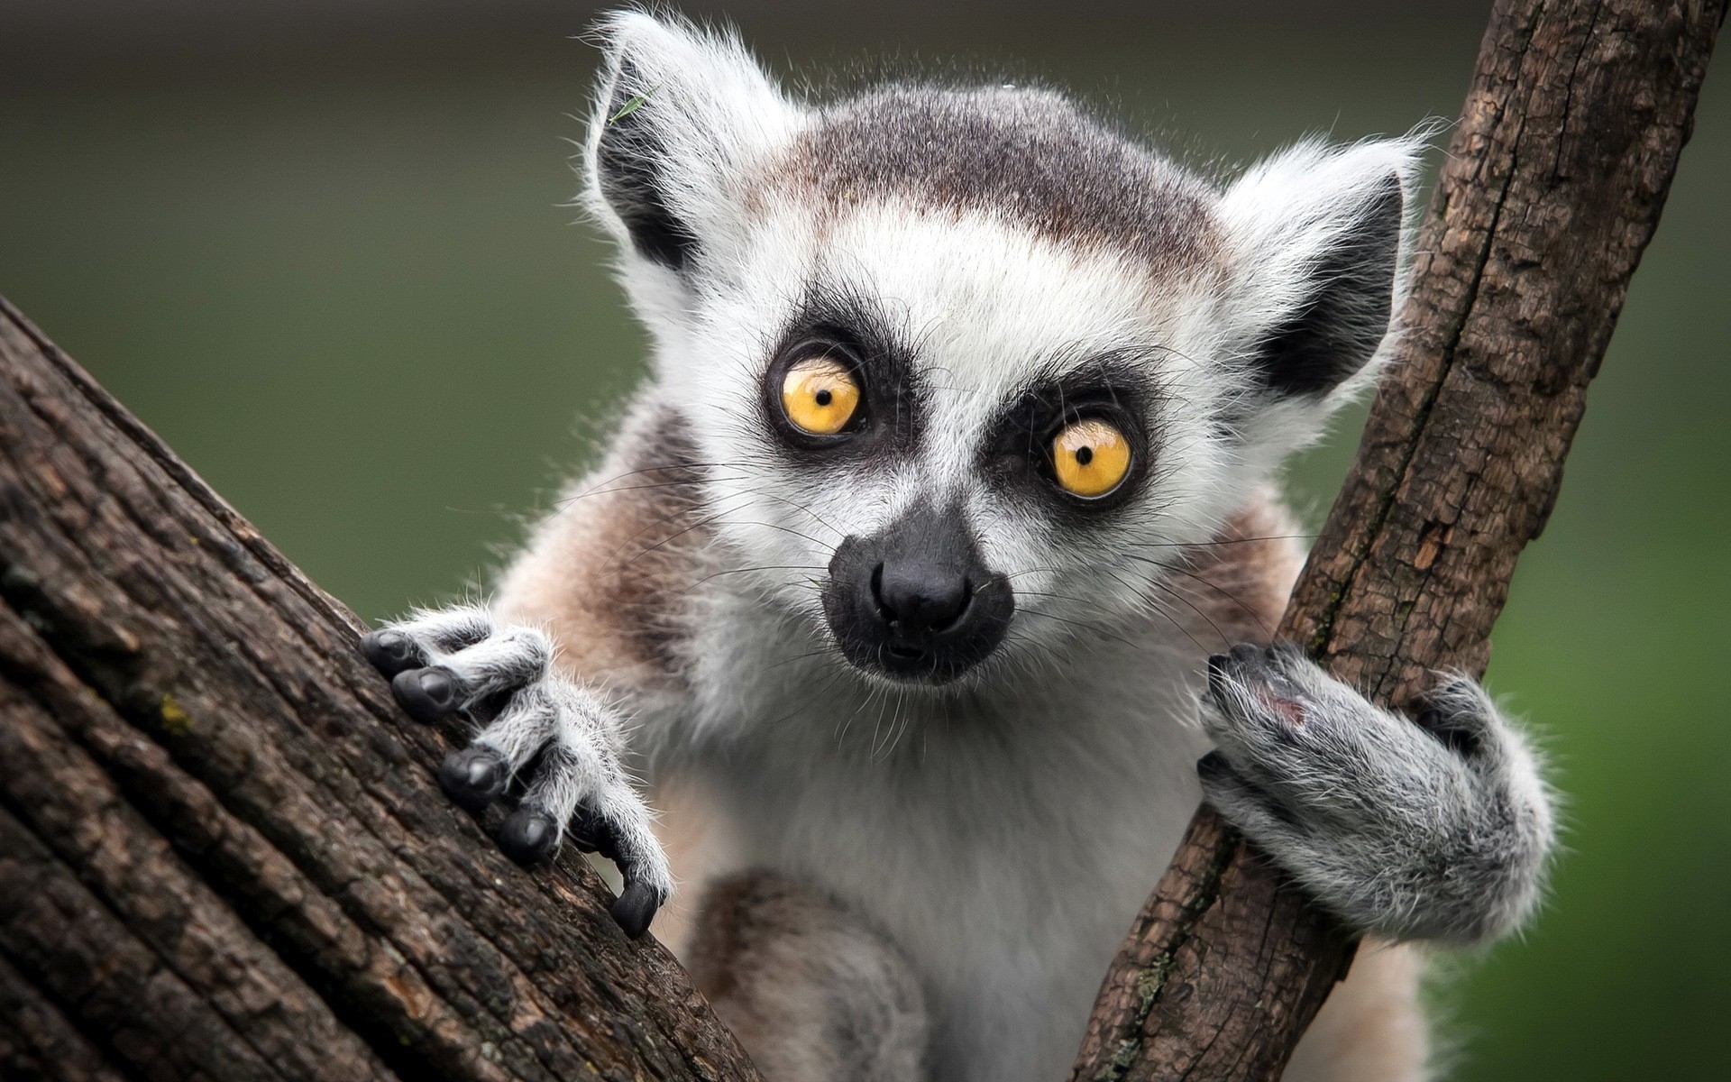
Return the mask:
[[602,17],[606,59],[589,125],[592,209],[642,258],[685,270],[725,215],[744,164],[798,111],[730,35],[642,12]]

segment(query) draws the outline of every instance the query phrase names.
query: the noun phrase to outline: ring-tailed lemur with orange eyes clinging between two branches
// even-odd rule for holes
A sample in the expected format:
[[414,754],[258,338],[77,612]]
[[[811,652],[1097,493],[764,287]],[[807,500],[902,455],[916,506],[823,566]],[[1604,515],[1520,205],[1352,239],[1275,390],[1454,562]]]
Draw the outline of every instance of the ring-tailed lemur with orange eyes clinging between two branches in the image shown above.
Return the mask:
[[1378,369],[1423,140],[1217,184],[1051,90],[817,104],[729,33],[599,33],[653,374],[490,604],[364,641],[474,722],[445,791],[611,859],[628,935],[668,905],[772,1082],[1065,1077],[1208,800],[1373,937],[1288,1079],[1423,1077],[1411,942],[1534,905],[1535,755],[1471,679],[1414,722],[1271,642],[1271,480]]

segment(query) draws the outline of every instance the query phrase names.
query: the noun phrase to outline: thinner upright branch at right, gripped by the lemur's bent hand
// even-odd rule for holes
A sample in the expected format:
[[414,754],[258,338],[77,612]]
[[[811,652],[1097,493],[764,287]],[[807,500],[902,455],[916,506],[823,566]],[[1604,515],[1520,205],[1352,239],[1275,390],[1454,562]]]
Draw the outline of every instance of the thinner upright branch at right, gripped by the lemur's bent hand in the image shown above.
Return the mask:
[[[1406,710],[1482,673],[1689,137],[1724,0],[1499,0],[1397,369],[1281,635]],[[1352,942],[1203,810],[1101,989],[1073,1082],[1276,1079]]]

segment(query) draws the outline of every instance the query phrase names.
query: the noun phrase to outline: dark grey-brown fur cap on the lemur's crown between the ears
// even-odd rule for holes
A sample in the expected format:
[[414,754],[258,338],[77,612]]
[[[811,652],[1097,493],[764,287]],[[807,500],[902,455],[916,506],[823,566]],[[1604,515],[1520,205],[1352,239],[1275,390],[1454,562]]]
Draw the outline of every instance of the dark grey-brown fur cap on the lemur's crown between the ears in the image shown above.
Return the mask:
[[1151,268],[1208,261],[1213,194],[1046,90],[888,87],[826,109],[782,177],[833,208],[900,197],[995,213]]

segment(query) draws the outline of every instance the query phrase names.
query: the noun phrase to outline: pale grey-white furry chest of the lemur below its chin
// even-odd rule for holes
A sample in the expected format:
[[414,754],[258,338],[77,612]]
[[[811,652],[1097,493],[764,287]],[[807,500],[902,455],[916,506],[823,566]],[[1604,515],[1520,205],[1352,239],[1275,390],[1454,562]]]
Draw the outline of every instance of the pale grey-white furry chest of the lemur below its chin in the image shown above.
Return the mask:
[[1187,668],[1087,696],[734,696],[746,736],[706,774],[741,864],[841,897],[923,971],[954,1077],[1059,1077],[1200,798]]

